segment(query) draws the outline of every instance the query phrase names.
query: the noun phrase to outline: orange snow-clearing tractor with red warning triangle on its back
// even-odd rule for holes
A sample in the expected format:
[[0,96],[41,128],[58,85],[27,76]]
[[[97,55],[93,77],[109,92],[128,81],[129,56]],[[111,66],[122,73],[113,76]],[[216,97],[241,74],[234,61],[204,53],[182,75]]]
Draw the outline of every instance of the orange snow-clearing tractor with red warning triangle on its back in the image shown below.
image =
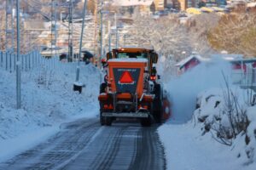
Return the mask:
[[164,98],[153,49],[118,48],[102,59],[106,70],[100,87],[100,122],[111,126],[119,118],[137,118],[142,126],[160,123],[170,116]]

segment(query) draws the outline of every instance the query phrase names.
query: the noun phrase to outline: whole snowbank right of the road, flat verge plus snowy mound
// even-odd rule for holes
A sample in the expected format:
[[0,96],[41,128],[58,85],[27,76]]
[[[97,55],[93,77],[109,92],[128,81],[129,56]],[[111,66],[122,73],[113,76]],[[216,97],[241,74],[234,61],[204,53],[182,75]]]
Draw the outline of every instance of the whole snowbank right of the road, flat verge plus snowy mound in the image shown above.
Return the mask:
[[221,138],[218,128],[230,131],[229,118],[224,114],[223,89],[203,91],[198,95],[198,109],[191,121],[178,125],[168,123],[158,129],[166,149],[167,169],[255,169],[256,106],[248,106],[247,90],[235,88],[233,91],[240,108],[246,111],[249,121],[246,132],[237,133],[236,138]]

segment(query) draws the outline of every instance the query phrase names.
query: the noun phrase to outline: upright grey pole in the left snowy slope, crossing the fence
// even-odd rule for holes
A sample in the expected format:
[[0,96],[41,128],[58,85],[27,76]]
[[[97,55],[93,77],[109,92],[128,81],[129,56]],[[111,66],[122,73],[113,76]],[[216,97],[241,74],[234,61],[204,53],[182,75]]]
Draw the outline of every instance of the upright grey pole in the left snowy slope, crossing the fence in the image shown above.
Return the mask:
[[20,88],[20,2],[16,0],[16,17],[17,17],[17,57],[16,57],[16,98],[17,109],[21,107],[21,88]]

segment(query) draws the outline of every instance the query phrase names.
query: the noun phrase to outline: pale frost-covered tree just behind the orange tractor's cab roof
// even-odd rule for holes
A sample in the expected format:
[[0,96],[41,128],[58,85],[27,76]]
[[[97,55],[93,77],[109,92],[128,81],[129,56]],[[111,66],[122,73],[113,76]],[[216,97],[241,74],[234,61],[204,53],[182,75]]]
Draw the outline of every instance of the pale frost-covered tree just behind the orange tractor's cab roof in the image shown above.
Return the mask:
[[191,51],[189,34],[184,26],[179,24],[175,15],[154,20],[148,16],[138,16],[134,20],[133,29],[137,45],[153,47],[159,54],[175,56],[178,60],[182,52]]

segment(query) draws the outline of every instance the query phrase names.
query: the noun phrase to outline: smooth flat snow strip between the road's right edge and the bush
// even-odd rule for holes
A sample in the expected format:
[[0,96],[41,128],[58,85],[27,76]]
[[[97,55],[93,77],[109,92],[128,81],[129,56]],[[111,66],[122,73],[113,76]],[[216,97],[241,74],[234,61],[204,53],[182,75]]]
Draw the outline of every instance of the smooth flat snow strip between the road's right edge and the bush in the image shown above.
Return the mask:
[[256,164],[243,166],[233,148],[219,144],[212,135],[201,136],[193,123],[166,124],[159,129],[167,160],[167,169],[174,170],[254,170]]

